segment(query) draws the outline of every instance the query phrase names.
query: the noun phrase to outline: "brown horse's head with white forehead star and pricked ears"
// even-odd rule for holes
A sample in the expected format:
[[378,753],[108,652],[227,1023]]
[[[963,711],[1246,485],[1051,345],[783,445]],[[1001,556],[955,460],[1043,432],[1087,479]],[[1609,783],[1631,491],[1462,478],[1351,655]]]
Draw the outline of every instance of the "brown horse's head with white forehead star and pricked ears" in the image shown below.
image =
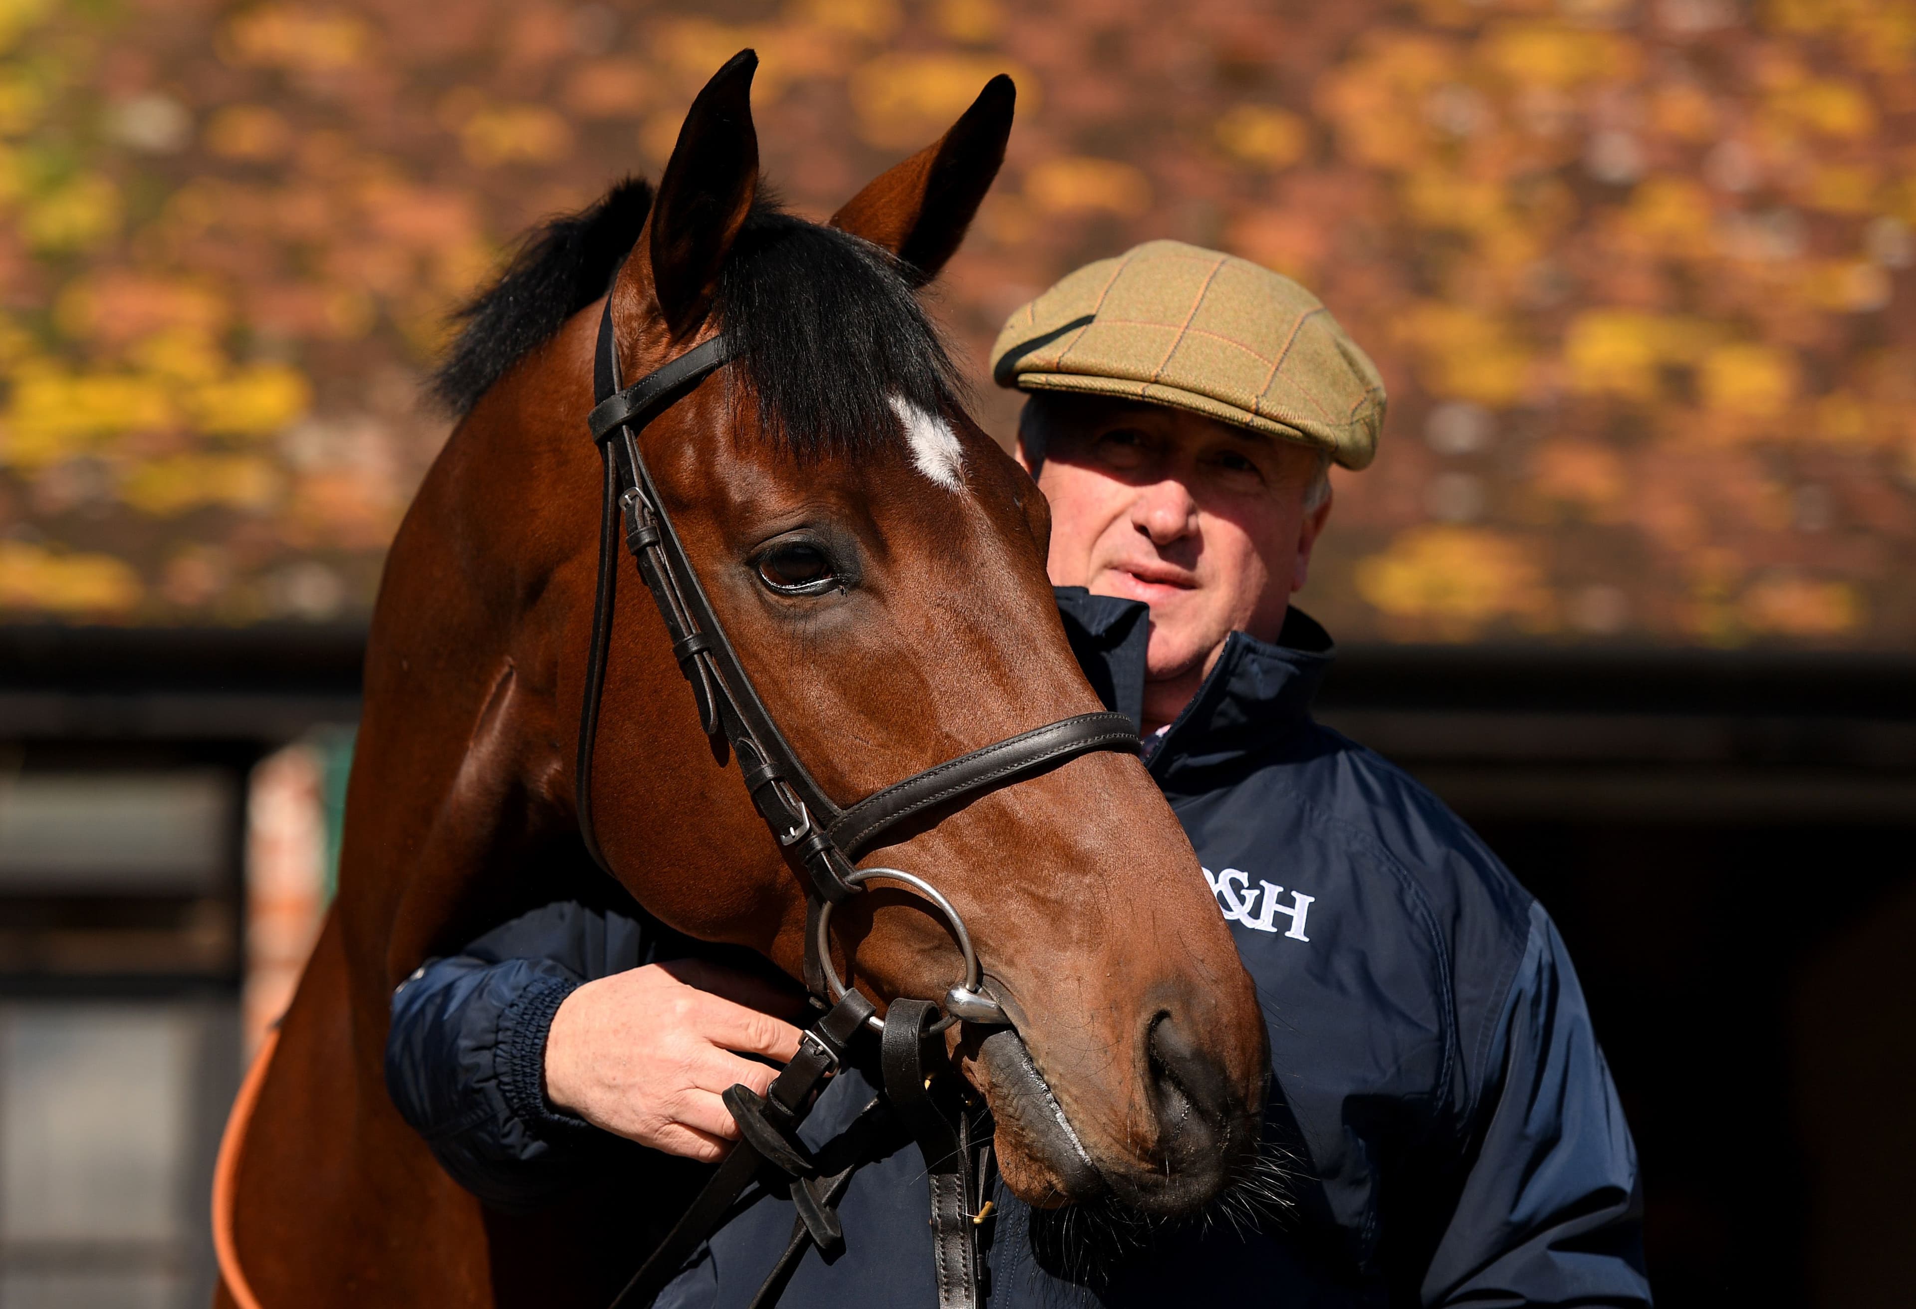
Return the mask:
[[[816,226],[759,194],[753,67],[740,56],[694,103],[611,320],[625,379],[720,330],[740,349],[640,443],[761,698],[849,805],[1102,705],[1044,575],[1044,498],[966,416],[914,297],[1004,157],[1010,80]],[[577,324],[571,335],[584,339]],[[584,502],[573,516],[573,594],[590,594]],[[797,974],[805,882],[701,732],[628,567],[619,588],[592,795],[600,847],[665,922]],[[573,652],[588,613],[567,617]],[[1266,1037],[1144,767],[1077,757],[883,839],[866,862],[916,872],[958,907],[1015,1018],[1015,1037],[950,1035],[992,1104],[1012,1188],[1035,1204],[1109,1194],[1159,1213],[1211,1200],[1253,1148]],[[958,976],[943,924],[902,891],[858,897],[835,926],[841,968],[878,1000],[943,997]]]

